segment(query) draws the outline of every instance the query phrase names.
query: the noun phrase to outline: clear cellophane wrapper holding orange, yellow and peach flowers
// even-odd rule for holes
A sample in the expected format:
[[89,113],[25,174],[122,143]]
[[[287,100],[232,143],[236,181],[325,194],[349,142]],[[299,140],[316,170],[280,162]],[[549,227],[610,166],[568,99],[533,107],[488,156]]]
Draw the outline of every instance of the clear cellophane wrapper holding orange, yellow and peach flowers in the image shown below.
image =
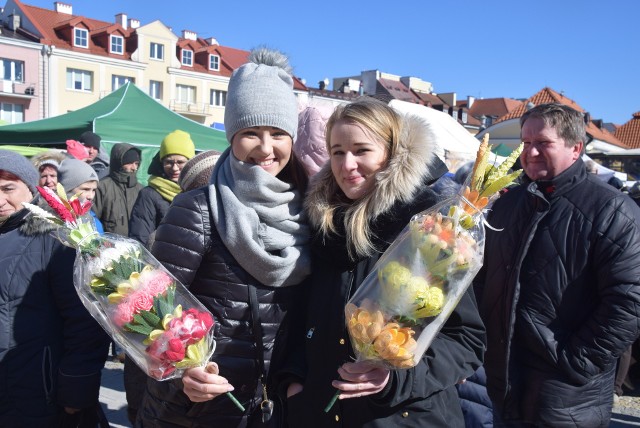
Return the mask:
[[484,219],[469,207],[457,195],[413,216],[351,297],[357,361],[418,364],[482,266]]

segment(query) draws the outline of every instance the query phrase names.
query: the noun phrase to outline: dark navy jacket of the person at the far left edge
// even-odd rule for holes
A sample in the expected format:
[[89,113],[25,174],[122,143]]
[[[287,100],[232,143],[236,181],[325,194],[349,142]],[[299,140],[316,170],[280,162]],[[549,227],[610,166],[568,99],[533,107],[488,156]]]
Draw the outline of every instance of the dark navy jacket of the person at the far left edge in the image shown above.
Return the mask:
[[51,231],[26,209],[0,225],[0,427],[55,426],[62,407],[98,402],[108,338]]

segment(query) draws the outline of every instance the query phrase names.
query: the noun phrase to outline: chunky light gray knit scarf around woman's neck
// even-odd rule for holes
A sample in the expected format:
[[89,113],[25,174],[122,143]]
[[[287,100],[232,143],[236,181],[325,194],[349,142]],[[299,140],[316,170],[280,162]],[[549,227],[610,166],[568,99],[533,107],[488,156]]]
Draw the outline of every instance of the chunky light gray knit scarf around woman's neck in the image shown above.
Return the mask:
[[309,275],[309,226],[302,195],[227,149],[209,186],[213,222],[238,264],[271,287],[299,284]]

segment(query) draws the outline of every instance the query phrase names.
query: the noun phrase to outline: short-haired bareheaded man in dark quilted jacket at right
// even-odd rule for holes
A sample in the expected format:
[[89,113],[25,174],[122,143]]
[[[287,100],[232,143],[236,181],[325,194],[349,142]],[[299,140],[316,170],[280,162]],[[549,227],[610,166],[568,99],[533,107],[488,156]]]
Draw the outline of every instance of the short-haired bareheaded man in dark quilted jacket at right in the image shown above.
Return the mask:
[[521,118],[526,178],[493,206],[476,277],[497,426],[606,427],[639,334],[638,207],[588,174],[582,113]]

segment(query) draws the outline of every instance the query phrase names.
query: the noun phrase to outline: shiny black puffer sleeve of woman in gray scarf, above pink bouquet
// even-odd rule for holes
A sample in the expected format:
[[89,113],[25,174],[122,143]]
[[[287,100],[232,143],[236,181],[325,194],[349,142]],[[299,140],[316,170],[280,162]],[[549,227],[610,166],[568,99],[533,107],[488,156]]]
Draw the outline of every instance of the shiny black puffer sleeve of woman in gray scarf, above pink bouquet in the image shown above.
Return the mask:
[[151,253],[189,288],[211,239],[206,188],[178,194],[158,226]]

